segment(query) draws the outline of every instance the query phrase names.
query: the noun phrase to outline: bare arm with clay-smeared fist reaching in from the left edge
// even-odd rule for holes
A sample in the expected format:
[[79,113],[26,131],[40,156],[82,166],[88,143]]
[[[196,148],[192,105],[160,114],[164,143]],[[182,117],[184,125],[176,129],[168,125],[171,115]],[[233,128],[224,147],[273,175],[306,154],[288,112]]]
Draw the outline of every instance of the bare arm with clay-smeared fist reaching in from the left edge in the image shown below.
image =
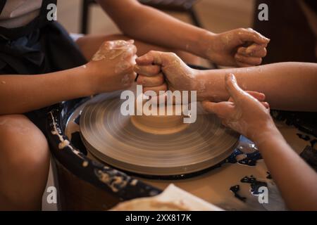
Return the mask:
[[132,41],[107,41],[86,65],[45,75],[0,75],[0,115],[126,89],[135,80]]

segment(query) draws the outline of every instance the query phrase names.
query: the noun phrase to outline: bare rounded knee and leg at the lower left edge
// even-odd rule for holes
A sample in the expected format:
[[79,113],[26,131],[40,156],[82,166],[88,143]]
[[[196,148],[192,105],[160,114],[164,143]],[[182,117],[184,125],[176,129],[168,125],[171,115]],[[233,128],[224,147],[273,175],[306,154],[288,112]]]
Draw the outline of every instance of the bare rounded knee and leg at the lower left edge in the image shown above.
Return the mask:
[[24,115],[0,116],[0,210],[41,210],[48,172],[42,131]]

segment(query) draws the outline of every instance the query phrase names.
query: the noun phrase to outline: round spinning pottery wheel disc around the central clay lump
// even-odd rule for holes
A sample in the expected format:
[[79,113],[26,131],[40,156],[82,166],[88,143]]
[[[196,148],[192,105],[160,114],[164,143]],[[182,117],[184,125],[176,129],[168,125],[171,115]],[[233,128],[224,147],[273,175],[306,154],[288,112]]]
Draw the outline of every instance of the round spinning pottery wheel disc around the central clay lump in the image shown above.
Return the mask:
[[106,164],[137,174],[173,176],[199,172],[225,160],[239,135],[226,129],[215,115],[202,113],[197,121],[174,134],[150,134],[137,129],[120,113],[120,94],[102,94],[80,116],[82,141]]

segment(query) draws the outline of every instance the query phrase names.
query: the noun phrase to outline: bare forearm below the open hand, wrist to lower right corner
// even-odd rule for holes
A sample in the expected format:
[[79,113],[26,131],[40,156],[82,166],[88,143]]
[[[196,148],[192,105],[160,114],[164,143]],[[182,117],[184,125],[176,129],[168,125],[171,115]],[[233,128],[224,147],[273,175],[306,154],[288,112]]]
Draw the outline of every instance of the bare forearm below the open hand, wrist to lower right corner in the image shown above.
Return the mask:
[[[268,170],[290,210],[317,210],[317,174],[290,148],[280,132],[256,141]],[[265,135],[264,135],[265,136]]]

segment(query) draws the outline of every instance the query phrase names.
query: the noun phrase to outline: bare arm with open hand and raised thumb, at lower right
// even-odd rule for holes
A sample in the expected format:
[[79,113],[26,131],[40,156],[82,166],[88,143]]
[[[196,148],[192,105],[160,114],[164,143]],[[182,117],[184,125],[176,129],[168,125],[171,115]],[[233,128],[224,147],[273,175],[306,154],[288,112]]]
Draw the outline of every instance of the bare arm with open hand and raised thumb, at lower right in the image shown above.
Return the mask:
[[232,74],[225,75],[225,87],[229,101],[204,101],[204,109],[256,143],[290,210],[317,210],[317,174],[286,143],[266,104],[258,101],[263,96],[240,89]]

